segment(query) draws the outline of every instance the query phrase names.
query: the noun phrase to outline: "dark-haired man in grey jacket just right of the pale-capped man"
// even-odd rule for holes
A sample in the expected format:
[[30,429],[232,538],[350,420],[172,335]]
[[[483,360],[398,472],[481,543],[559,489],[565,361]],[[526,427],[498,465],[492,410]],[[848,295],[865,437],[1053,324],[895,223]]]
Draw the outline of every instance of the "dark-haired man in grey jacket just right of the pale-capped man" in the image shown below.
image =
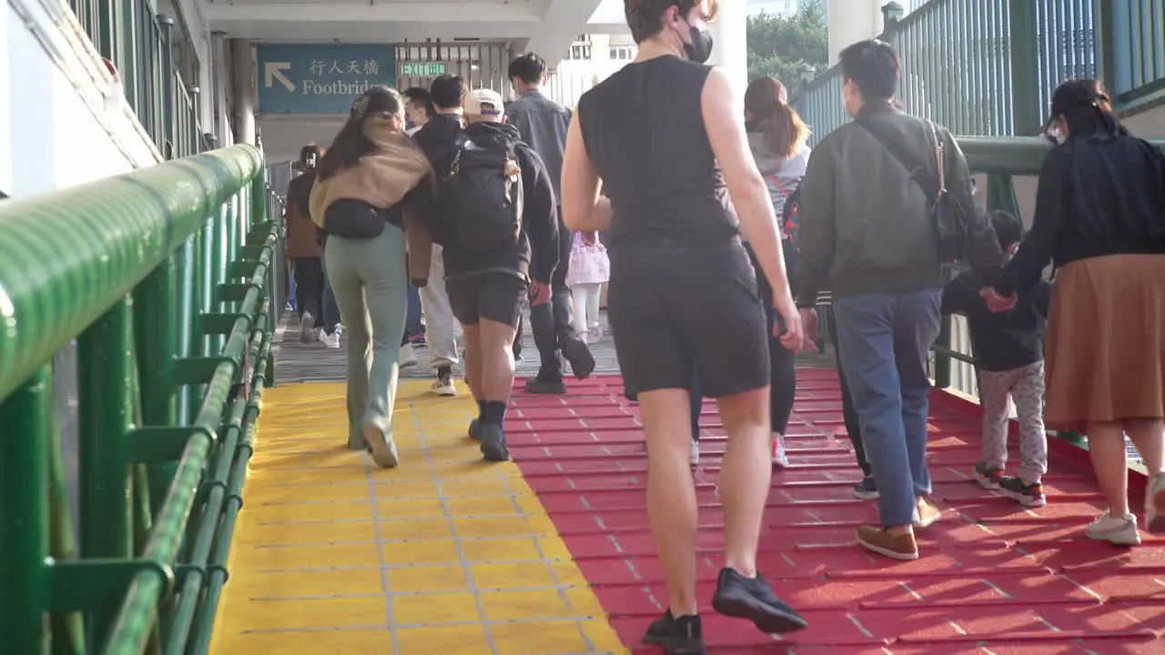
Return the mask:
[[[520,98],[506,107],[506,122],[517,128],[530,148],[538,153],[550,181],[555,185],[556,204],[562,203],[559,181],[563,176],[563,152],[566,149],[566,128],[571,124],[571,111],[551,100],[542,92],[546,80],[546,62],[534,52],[525,52],[509,64],[509,78]],[[562,214],[562,207],[557,213]],[[574,376],[587,378],[594,371],[594,355],[586,341],[574,330],[573,301],[566,284],[566,269],[573,245],[571,231],[558,220],[558,267],[550,281],[550,302],[530,308],[530,331],[538,346],[541,365],[538,374],[525,381],[525,390],[532,394],[565,394],[563,366],[558,353],[571,364]]]

